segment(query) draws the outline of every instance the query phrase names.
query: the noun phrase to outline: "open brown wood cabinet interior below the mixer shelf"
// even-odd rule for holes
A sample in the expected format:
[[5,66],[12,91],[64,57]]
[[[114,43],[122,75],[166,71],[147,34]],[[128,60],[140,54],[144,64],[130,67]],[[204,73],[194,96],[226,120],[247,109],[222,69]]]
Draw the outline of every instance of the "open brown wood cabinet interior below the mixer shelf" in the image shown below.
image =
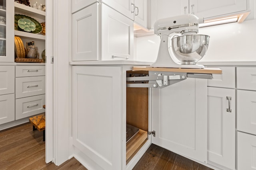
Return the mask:
[[[126,76],[148,76],[148,71],[127,71]],[[146,140],[148,140],[148,88],[127,87],[126,164]]]

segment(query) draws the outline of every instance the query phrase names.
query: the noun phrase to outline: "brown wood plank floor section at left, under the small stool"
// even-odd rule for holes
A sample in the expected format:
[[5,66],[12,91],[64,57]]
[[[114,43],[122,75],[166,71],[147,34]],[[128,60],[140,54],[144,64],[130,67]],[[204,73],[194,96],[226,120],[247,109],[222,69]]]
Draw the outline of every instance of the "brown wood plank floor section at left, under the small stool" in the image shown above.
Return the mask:
[[45,163],[43,132],[33,131],[31,123],[0,131],[1,170],[87,170],[75,158],[60,166]]

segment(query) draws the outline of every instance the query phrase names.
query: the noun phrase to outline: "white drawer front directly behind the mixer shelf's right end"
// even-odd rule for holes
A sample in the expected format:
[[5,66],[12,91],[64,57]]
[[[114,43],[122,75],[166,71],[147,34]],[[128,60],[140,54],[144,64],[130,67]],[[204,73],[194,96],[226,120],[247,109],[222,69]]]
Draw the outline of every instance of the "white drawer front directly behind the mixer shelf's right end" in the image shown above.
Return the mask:
[[235,67],[214,67],[220,68],[222,74],[213,74],[212,80],[207,80],[207,86],[235,88],[236,72]]

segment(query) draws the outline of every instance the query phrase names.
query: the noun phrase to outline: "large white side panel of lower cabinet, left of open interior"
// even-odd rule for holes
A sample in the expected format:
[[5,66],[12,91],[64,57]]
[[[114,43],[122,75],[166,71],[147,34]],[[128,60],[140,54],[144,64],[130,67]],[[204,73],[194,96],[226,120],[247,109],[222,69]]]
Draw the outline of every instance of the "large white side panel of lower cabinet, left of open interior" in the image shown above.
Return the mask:
[[72,66],[73,145],[92,169],[122,169],[121,80],[118,66]]

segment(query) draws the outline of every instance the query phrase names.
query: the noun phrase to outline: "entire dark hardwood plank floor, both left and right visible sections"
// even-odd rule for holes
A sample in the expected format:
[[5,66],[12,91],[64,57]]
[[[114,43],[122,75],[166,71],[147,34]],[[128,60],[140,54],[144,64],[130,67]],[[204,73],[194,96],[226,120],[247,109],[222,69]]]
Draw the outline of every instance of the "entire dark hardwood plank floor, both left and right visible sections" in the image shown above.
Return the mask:
[[[0,170],[87,170],[75,158],[60,166],[45,163],[43,133],[25,123],[0,131]],[[152,144],[133,170],[211,170]]]

